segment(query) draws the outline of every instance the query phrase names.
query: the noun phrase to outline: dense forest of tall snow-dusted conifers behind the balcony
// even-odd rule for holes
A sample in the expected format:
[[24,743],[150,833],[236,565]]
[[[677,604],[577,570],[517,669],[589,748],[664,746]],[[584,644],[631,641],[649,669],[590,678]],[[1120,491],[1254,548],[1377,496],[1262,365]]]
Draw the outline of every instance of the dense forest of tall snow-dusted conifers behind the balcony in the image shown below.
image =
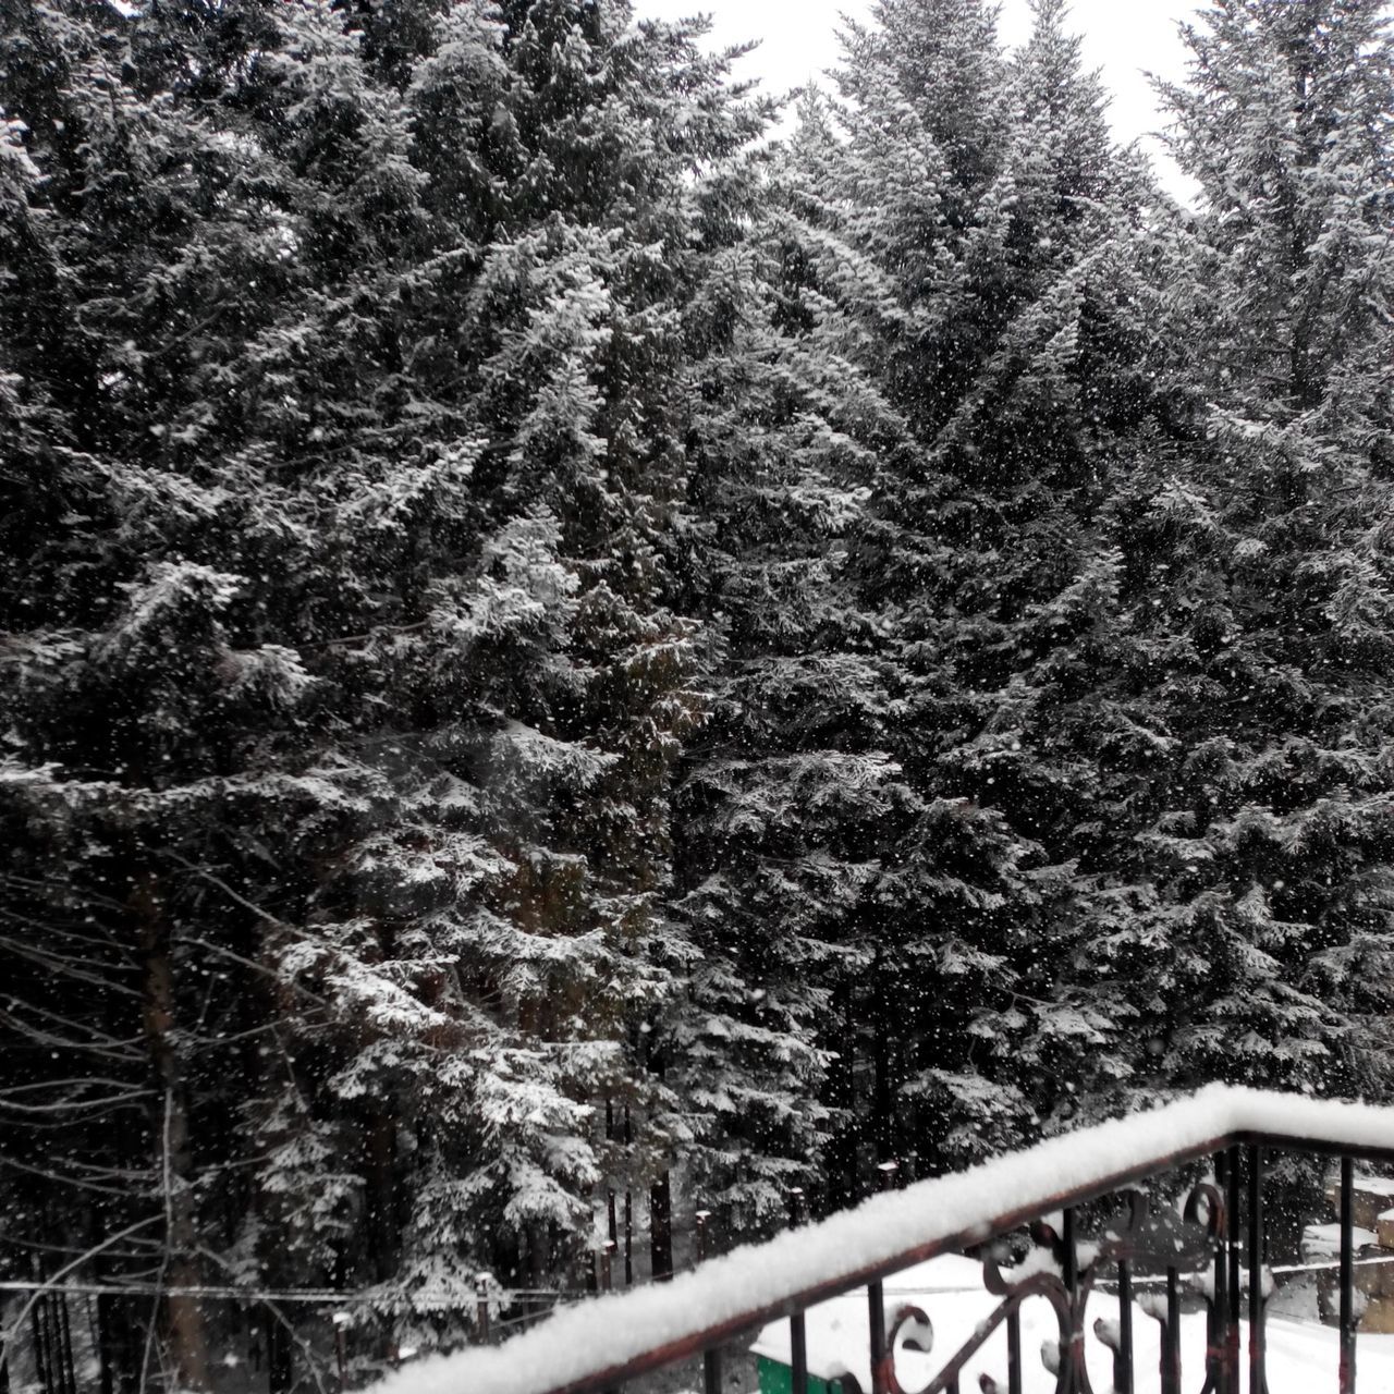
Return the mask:
[[1199,11],[1186,202],[1064,0],[641,11],[0,0],[0,1334],[102,1394],[1394,1098],[1394,7]]

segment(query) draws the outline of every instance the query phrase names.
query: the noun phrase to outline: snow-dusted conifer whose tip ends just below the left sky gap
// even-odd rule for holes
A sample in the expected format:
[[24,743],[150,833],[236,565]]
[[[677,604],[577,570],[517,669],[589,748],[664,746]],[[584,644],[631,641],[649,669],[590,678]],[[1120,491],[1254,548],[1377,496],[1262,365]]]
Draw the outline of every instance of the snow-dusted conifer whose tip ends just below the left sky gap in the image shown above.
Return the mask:
[[894,293],[822,205],[828,138],[809,95],[793,153],[732,171],[746,230],[690,316],[710,340],[690,417],[712,712],[677,795],[687,987],[662,1044],[686,1171],[735,1235],[785,1224],[795,1185],[821,1206],[825,1181],[843,1200],[861,1184],[845,1004],[880,848],[916,807],[846,584],[877,457],[907,442],[857,361]]

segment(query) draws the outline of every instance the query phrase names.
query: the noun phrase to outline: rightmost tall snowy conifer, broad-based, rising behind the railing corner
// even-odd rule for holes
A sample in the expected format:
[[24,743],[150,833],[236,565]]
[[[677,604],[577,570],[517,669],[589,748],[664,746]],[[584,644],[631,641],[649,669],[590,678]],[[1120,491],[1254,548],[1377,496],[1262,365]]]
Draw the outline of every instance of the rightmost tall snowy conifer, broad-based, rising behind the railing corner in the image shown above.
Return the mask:
[[1217,1078],[1383,1087],[1379,33],[1374,7],[1221,6],[1170,92],[1204,205],[1153,212],[1118,283],[1146,379],[1114,353],[1085,381],[1151,406],[1076,581],[1030,609],[1013,718],[1057,753],[1047,841],[1075,868],[1025,1012],[1023,1062],[1066,1082],[1051,1124]]

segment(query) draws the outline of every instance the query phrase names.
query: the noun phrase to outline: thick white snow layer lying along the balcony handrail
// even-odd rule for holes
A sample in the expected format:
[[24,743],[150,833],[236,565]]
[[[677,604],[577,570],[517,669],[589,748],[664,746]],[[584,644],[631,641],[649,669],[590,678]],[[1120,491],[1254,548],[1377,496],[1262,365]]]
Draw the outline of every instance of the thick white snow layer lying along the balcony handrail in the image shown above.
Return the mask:
[[[558,1312],[502,1347],[436,1356],[389,1376],[381,1394],[549,1394],[658,1347],[735,1334],[804,1305],[814,1284],[848,1287],[960,1248],[994,1228],[1110,1190],[1158,1158],[1185,1160],[1239,1133],[1394,1153],[1394,1108],[1211,1086],[1189,1098],[1051,1138],[970,1171],[875,1196],[856,1210],[746,1246],[672,1282]],[[1310,1341],[1324,1341],[1315,1333]],[[1362,1338],[1362,1349],[1370,1338]],[[1270,1365],[1280,1365],[1274,1351]],[[1276,1394],[1276,1391],[1274,1391]]]

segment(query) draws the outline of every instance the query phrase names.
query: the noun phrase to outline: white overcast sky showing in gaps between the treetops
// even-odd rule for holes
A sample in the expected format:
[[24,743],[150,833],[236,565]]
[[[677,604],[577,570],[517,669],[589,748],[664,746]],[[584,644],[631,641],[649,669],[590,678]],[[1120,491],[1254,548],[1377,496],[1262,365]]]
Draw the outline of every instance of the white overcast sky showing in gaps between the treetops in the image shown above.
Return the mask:
[[[1103,71],[1112,92],[1110,117],[1121,141],[1146,137],[1163,124],[1143,71],[1182,75],[1185,52],[1177,21],[1190,18],[1199,7],[1199,0],[1075,0],[1071,26],[1083,36],[1086,61]],[[870,0],[634,0],[640,15],[673,20],[710,14],[715,43],[760,39],[760,47],[742,61],[740,70],[760,77],[769,92],[817,81],[834,67],[841,15],[863,17],[868,8]],[[1001,33],[1009,45],[1027,38],[1026,0],[1004,0]],[[1151,141],[1144,144],[1157,153]],[[1165,173],[1167,183],[1175,187],[1179,176]]]

